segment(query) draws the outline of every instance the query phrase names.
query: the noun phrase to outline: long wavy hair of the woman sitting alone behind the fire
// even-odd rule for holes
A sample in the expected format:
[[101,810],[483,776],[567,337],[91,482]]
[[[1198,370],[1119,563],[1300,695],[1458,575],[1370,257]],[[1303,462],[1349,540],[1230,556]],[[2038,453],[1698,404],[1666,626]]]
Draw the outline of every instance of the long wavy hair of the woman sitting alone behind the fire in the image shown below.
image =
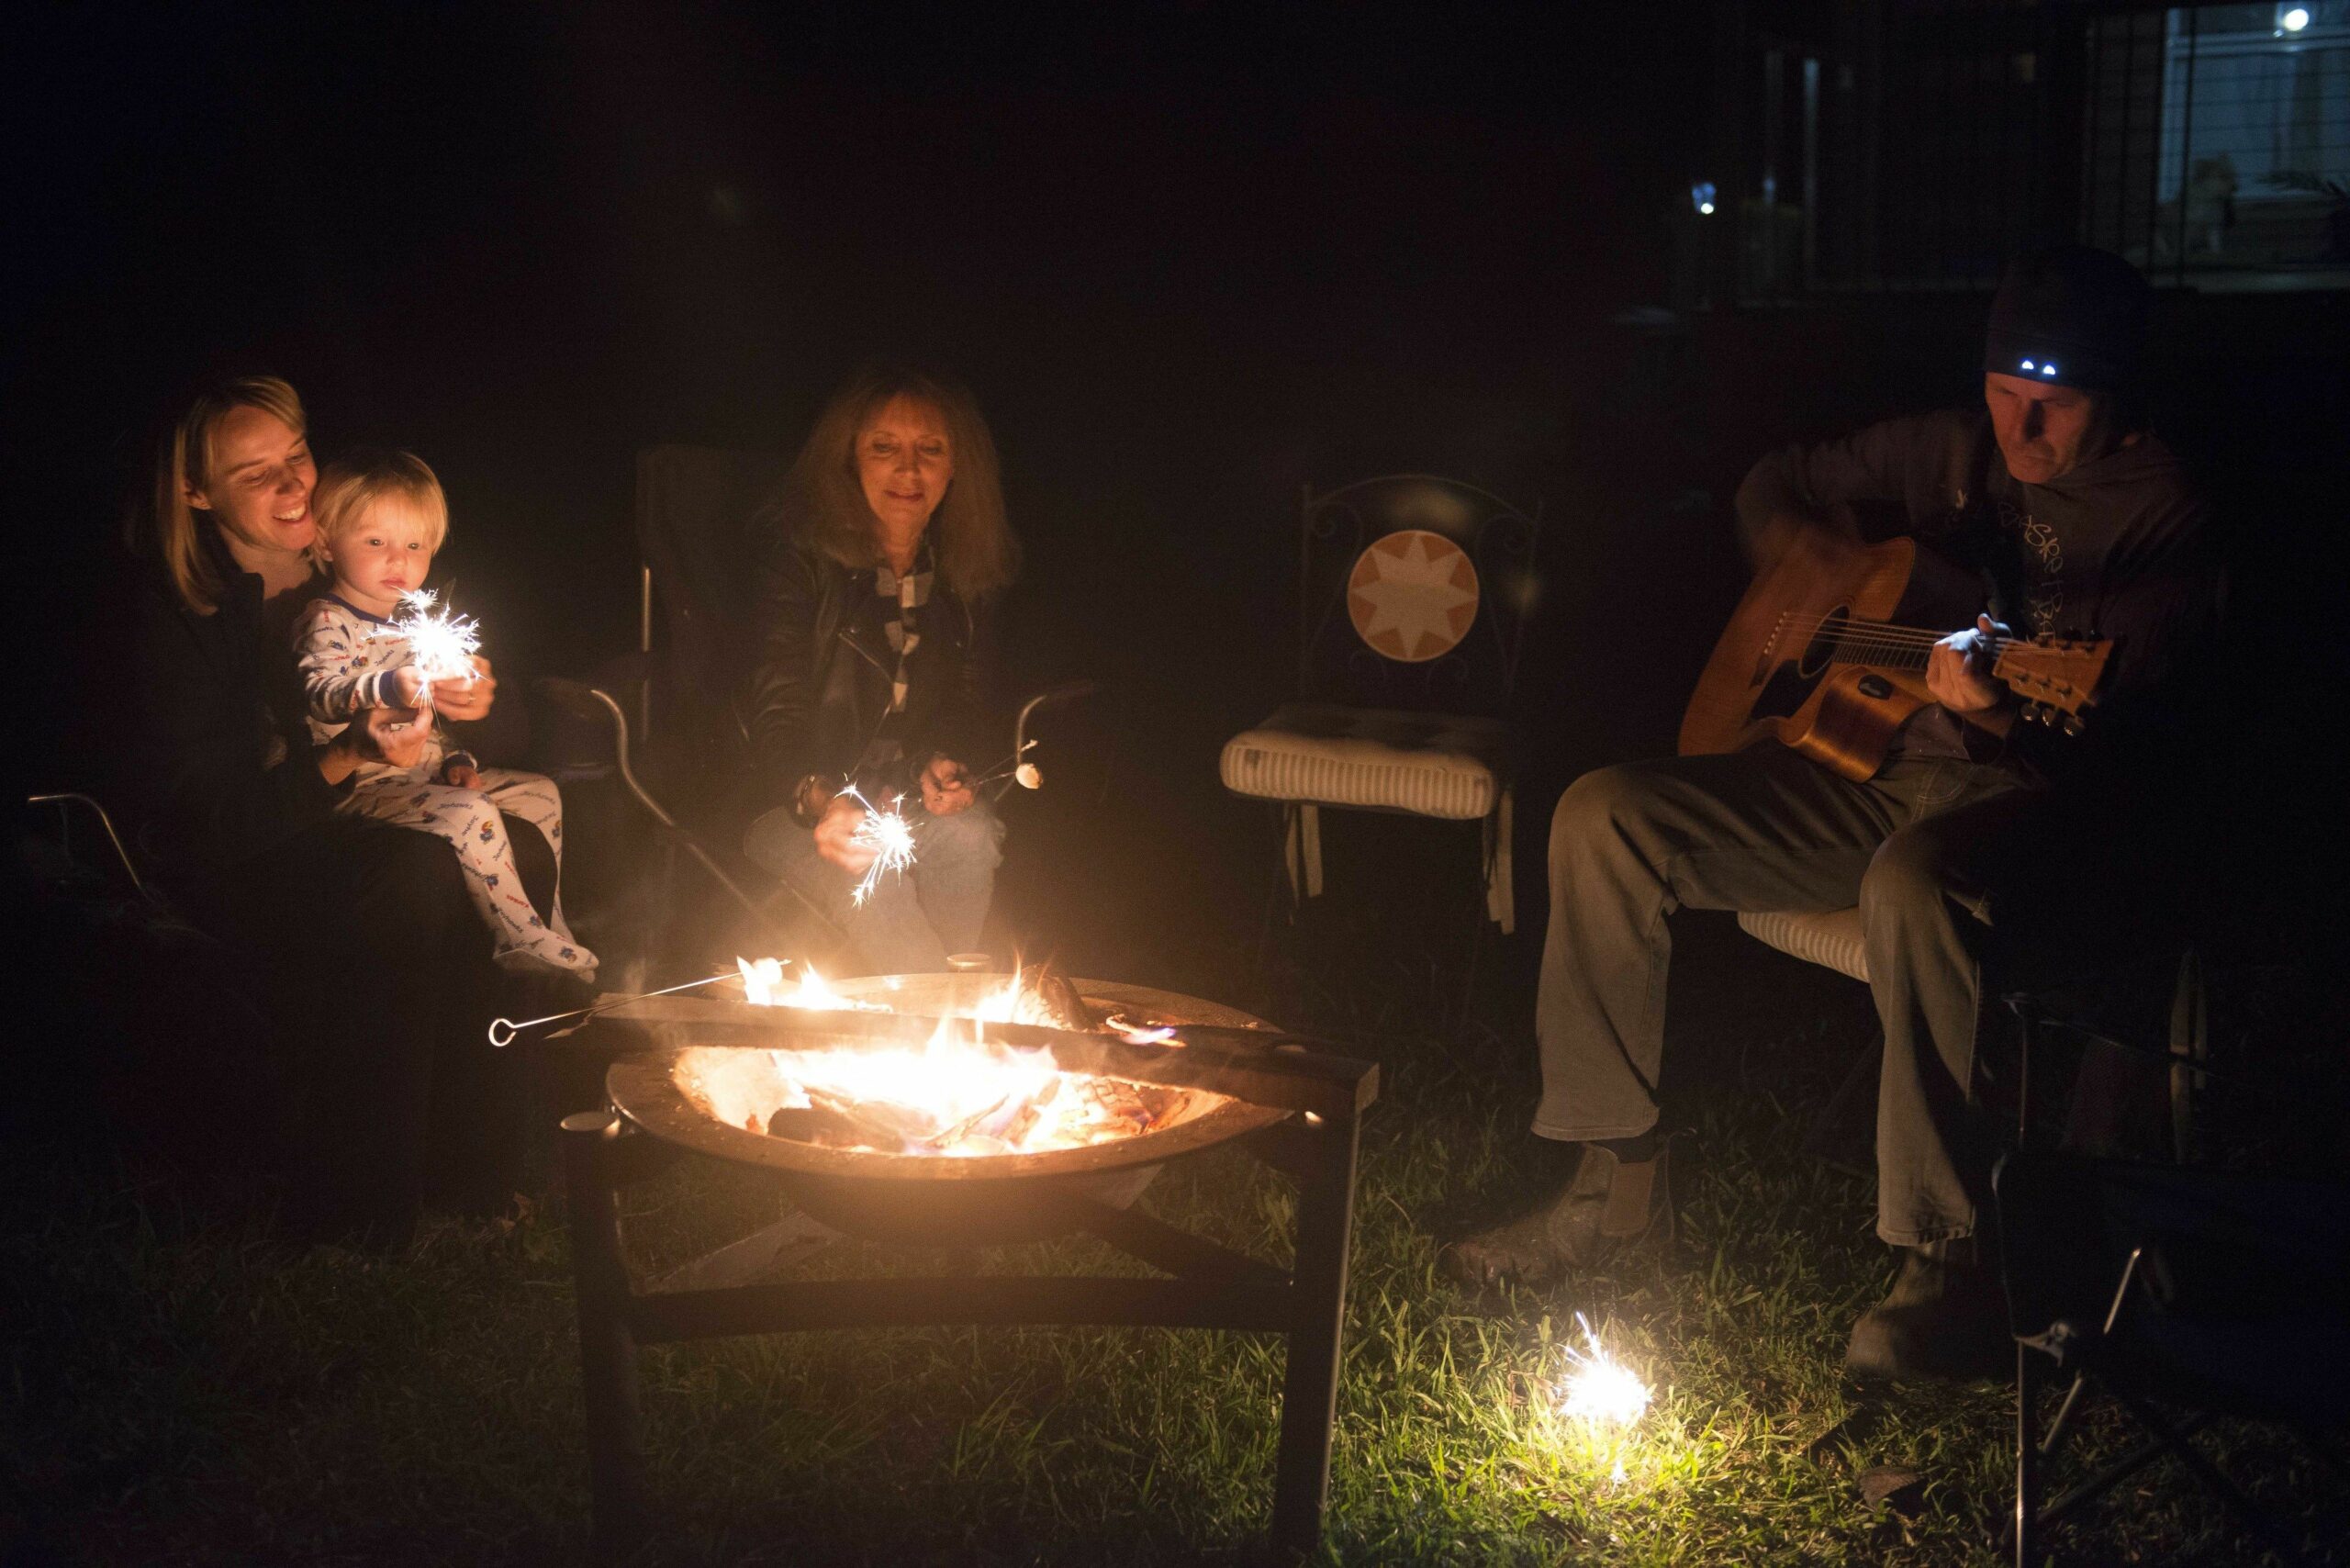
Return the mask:
[[938,411],[947,425],[954,480],[931,512],[931,552],[947,588],[982,599],[1020,571],[1020,541],[1003,517],[1003,470],[978,400],[961,386],[902,367],[865,367],[815,416],[792,473],[759,520],[797,534],[844,567],[877,567],[877,517],[858,482],[858,435],[893,397]]

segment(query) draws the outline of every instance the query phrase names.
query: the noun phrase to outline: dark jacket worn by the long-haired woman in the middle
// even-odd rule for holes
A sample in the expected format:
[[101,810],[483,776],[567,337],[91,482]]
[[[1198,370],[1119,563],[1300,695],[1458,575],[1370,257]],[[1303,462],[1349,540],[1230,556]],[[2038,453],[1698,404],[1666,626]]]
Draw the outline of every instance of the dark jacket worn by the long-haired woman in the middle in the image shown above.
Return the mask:
[[[757,571],[757,635],[750,675],[736,696],[745,741],[743,804],[764,811],[792,802],[808,773],[839,783],[867,762],[884,733],[898,654],[884,632],[888,602],[874,592],[870,569],[844,567],[783,531],[766,534]],[[905,712],[888,719],[902,764],[884,776],[860,773],[870,788],[912,788],[912,771],[933,752],[968,769],[987,733],[992,677],[992,618],[933,578],[919,611],[921,642],[907,658]]]

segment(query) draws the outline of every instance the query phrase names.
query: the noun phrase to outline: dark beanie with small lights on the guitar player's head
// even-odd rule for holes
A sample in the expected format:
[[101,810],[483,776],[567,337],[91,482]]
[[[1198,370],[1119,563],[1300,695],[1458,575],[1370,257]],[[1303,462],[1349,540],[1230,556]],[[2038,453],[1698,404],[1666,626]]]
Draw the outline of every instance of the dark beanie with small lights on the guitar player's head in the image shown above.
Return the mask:
[[2155,292],[2113,252],[2052,244],[2007,263],[1990,299],[1983,369],[2084,393],[2138,378]]

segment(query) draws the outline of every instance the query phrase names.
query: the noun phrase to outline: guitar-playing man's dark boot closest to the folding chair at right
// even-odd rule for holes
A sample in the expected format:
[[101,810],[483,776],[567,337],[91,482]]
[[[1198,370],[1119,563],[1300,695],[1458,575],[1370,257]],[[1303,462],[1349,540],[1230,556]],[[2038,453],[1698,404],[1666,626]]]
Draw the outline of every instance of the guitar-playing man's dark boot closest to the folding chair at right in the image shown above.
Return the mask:
[[1901,1248],[1901,1274],[1845,1345],[1861,1382],[1976,1382],[2016,1371],[1998,1262],[1974,1237]]

